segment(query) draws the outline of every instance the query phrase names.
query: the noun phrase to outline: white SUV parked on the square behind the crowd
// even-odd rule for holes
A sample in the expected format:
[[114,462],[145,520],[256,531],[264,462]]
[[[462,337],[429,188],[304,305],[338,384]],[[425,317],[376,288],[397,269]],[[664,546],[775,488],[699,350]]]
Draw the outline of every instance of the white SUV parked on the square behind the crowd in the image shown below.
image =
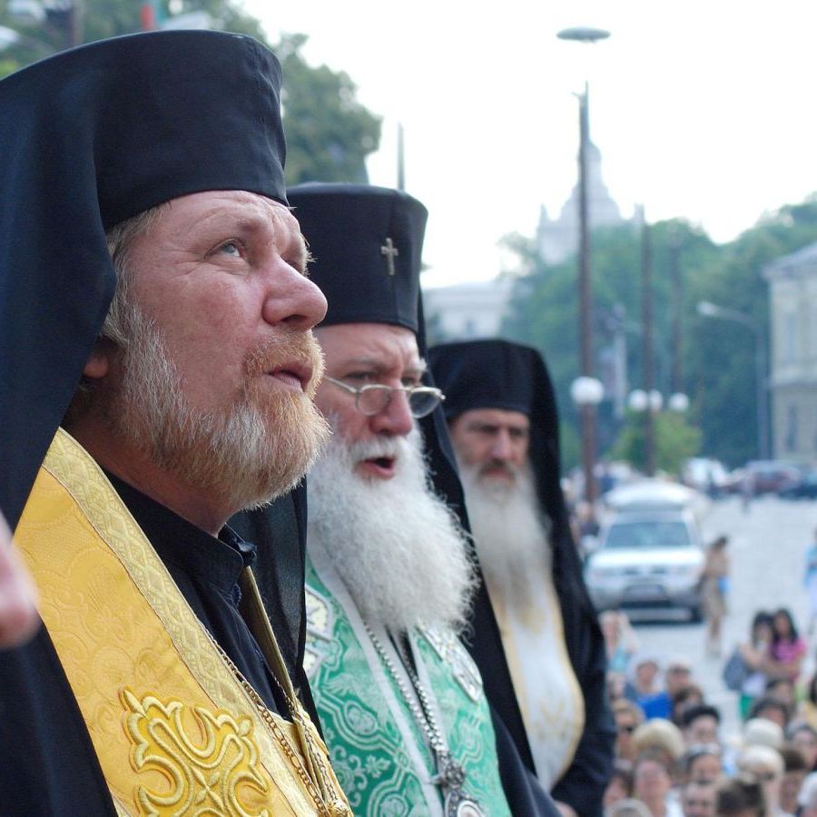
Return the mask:
[[701,618],[701,534],[688,509],[621,511],[586,562],[596,607],[682,607]]

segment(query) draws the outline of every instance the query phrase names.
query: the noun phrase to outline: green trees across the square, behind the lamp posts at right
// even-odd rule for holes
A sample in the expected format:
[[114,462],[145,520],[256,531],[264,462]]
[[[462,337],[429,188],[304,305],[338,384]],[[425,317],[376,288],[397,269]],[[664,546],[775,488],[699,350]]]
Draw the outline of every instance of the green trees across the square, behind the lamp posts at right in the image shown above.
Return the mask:
[[[769,293],[763,268],[782,255],[817,241],[817,197],[764,216],[735,241],[716,245],[685,221],[650,228],[653,246],[655,388],[670,393],[674,293],[671,245],[678,244],[684,280],[683,388],[692,401],[689,422],[701,429],[708,456],[735,466],[757,456],[755,343],[738,323],[702,317],[696,304],[710,300],[739,310],[768,333]],[[546,357],[566,420],[576,423],[569,387],[578,372],[576,260],[548,266],[535,242],[513,235],[505,241],[518,260],[517,282],[503,334],[530,343]],[[594,356],[612,342],[616,305],[625,321],[629,388],[641,388],[641,238],[632,225],[594,231],[591,243]],[[621,428],[610,406],[600,407],[602,452]]]

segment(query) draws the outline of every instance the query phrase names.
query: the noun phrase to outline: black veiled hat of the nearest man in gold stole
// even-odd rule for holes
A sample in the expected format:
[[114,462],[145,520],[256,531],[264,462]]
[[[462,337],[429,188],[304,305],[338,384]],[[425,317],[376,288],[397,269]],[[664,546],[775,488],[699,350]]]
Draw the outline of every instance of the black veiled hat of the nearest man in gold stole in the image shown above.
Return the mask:
[[105,231],[171,199],[286,202],[281,67],[241,34],[103,40],[0,81],[0,509],[11,527],[113,296]]

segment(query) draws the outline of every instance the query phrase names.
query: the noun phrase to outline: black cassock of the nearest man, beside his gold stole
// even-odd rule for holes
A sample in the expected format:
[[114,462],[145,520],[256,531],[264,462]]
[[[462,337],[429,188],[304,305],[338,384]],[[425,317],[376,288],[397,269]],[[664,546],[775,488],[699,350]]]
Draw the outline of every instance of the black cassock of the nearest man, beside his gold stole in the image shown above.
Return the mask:
[[[224,528],[216,539],[133,487],[111,477],[125,505],[150,539],[182,595],[241,673],[271,709],[287,716],[281,692],[272,681],[261,650],[241,615],[238,576],[255,559],[255,546]],[[283,497],[275,516],[291,539],[281,538],[283,553],[302,547],[298,525],[300,497]],[[302,561],[302,560],[301,560]],[[266,586],[297,586],[279,559]],[[301,573],[302,576],[302,573]],[[268,600],[268,611],[292,683],[302,703],[318,723],[309,685],[301,668],[300,603]],[[94,746],[71,686],[44,627],[34,640],[14,650],[0,651],[0,815],[2,817],[96,817],[115,815]]]

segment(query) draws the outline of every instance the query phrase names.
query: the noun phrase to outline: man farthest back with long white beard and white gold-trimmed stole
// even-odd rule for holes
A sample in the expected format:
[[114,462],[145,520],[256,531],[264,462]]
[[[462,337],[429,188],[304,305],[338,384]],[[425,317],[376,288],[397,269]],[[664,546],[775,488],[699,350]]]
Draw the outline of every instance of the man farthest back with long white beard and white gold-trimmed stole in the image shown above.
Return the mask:
[[428,362],[537,776],[563,812],[600,815],[614,739],[605,647],[567,522],[545,363],[506,340],[443,344]]

